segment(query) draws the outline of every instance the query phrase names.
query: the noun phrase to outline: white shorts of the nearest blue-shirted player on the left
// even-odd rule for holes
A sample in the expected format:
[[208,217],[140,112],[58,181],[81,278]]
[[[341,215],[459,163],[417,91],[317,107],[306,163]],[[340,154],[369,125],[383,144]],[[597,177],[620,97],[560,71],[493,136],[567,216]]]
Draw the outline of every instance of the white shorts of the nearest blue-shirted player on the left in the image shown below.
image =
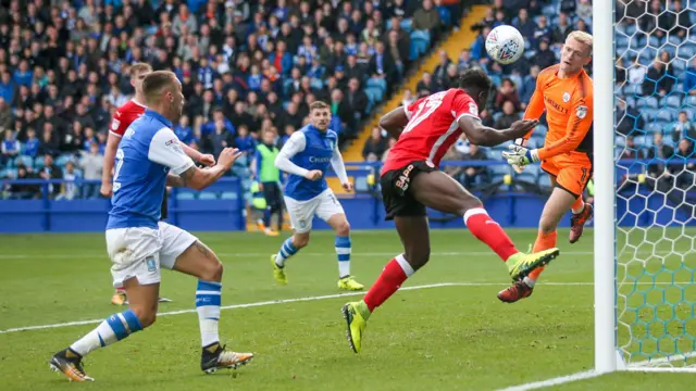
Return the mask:
[[159,283],[160,266],[172,269],[176,258],[198,238],[182,228],[160,222],[159,229],[134,227],[107,230],[114,287],[137,278],[140,285]]

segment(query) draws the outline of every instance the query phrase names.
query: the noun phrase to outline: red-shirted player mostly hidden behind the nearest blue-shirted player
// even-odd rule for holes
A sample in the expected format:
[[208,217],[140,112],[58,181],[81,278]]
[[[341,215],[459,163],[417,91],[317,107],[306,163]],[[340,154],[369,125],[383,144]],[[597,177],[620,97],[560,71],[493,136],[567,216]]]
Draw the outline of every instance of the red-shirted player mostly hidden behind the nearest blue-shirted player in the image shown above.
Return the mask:
[[[113,184],[111,175],[113,172],[114,159],[116,156],[116,150],[121,143],[121,138],[125,134],[130,124],[145,113],[145,97],[142,96],[142,80],[145,76],[152,72],[152,66],[146,63],[136,63],[130,65],[130,85],[135,89],[135,97],[119,108],[111,119],[109,125],[109,138],[107,139],[107,148],[104,149],[104,164],[101,173],[101,189],[100,192],[104,197],[113,195]],[[186,146],[182,142],[182,148],[186,154],[196,162],[200,162],[206,165],[215,164],[215,159],[211,154],[202,154],[195,149]],[[166,195],[166,194],[165,194]],[[166,217],[166,197],[162,206],[162,218]],[[115,305],[123,305],[126,301],[126,294],[123,287],[116,287],[116,292],[111,298],[111,303]]]

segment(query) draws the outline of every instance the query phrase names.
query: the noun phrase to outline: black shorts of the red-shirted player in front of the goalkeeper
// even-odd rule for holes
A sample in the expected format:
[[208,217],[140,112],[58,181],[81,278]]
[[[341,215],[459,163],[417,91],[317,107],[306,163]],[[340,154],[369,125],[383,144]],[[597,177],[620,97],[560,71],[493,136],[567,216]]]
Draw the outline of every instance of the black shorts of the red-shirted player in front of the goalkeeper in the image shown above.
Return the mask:
[[413,179],[420,173],[437,171],[432,163],[415,161],[406,166],[391,169],[382,175],[382,202],[386,212],[385,219],[390,220],[396,216],[426,216],[425,205],[418,202],[408,191]]

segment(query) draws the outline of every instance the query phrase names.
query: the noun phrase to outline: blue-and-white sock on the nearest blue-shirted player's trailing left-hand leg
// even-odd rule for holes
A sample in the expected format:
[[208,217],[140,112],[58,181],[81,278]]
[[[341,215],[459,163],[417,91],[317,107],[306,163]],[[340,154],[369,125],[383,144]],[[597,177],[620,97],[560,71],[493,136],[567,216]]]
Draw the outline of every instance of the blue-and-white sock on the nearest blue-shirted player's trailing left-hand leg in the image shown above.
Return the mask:
[[105,348],[140,330],[142,330],[140,319],[133,310],[128,310],[111,315],[96,329],[73,343],[70,349],[84,357],[97,348]]

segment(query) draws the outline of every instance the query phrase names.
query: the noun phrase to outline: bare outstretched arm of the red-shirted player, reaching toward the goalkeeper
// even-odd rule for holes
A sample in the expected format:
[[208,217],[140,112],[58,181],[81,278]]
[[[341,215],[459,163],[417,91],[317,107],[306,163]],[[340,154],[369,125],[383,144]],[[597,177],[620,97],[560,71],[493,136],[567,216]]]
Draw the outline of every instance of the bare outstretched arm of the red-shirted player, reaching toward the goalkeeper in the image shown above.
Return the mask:
[[459,128],[467,135],[469,141],[481,147],[495,147],[509,140],[524,137],[537,124],[536,119],[518,121],[508,129],[498,130],[481,123],[481,119],[471,115],[461,115],[457,121]]

